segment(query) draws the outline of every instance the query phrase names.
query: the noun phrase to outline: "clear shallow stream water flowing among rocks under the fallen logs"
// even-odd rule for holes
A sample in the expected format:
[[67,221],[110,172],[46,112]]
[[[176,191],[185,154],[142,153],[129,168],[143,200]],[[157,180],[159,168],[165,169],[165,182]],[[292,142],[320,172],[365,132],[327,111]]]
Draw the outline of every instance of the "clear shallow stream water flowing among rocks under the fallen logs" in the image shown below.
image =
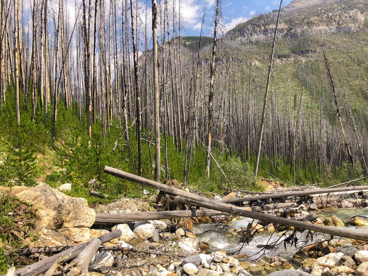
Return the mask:
[[[368,216],[368,208],[357,209],[357,208],[326,208],[323,210],[319,210],[317,212],[318,216],[328,219],[331,216],[337,216],[341,220],[348,220],[350,217],[355,215]],[[247,217],[240,217],[239,219],[233,221],[230,226],[224,224],[215,224],[215,223],[199,223],[195,224],[193,228],[193,232],[196,236],[201,240],[209,243],[210,251],[216,250],[224,250],[227,253],[231,254],[239,254],[239,253],[248,253],[250,256],[247,261],[255,260],[262,256],[265,253],[265,256],[281,256],[285,258],[290,258],[293,256],[298,250],[299,247],[305,243],[307,239],[308,231],[304,231],[302,233],[297,233],[298,242],[297,244],[285,244],[283,241],[289,237],[291,232],[286,232],[284,236],[280,237],[280,233],[274,233],[270,235],[270,233],[261,233],[255,235],[252,241],[249,244],[244,244],[240,242],[240,236],[234,235],[231,232],[231,229],[238,229],[240,227],[247,227],[248,223],[252,222],[252,219]],[[257,222],[256,220],[254,221]],[[368,226],[356,227],[350,226],[345,227],[349,228],[349,230],[357,231],[359,233],[367,233]],[[234,231],[236,233],[237,231]],[[308,240],[308,243],[315,243],[318,240],[323,239],[322,233],[315,233],[313,237],[313,241]],[[281,243],[280,246],[275,247],[273,249],[269,249],[264,251],[263,248],[257,247],[257,245],[266,245],[275,243]]]

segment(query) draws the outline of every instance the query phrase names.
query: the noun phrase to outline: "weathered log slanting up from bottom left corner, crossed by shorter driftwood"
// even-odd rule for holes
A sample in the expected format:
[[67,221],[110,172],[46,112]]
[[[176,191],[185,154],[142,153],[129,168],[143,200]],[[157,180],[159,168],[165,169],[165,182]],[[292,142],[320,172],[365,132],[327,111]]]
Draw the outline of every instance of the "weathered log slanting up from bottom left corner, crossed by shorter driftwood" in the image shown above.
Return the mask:
[[[113,240],[114,238],[120,237],[121,230],[115,230],[111,233],[105,234],[98,239],[101,241],[102,244],[107,243],[110,240]],[[52,265],[57,261],[60,260],[60,257],[68,256],[64,262],[68,262],[75,257],[77,257],[83,250],[86,248],[86,246],[89,244],[89,241],[86,243],[83,243],[81,245],[68,248],[67,250],[60,252],[59,254],[53,255],[47,259],[44,259],[40,262],[33,263],[32,265],[25,266],[24,268],[18,269],[15,271],[16,276],[34,276],[39,275],[41,273],[45,273],[47,270],[49,270]],[[2,275],[5,276],[5,275]]]

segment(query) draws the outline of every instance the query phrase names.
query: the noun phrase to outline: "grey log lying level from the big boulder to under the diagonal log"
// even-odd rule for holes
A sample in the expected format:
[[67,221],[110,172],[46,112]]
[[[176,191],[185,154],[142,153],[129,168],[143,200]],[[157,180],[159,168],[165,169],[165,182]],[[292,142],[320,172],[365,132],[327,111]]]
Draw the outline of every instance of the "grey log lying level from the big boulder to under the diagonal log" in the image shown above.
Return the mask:
[[162,212],[136,212],[120,214],[97,214],[95,224],[103,223],[127,223],[141,220],[156,219],[180,219],[182,217],[207,217],[229,215],[215,210],[183,210],[183,211],[162,211]]

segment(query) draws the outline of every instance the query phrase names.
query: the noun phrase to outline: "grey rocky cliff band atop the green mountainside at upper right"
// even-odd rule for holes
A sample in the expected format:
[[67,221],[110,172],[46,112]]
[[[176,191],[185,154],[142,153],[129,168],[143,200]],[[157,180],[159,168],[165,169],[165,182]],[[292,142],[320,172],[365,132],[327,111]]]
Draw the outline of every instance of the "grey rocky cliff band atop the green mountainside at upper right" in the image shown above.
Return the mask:
[[[292,7],[297,9],[301,3],[316,5],[319,0],[294,0]],[[323,1],[324,3],[329,3]],[[329,35],[332,33],[350,33],[364,28],[368,13],[361,1],[351,1],[349,5],[335,2],[327,6],[311,7],[284,14],[279,23],[278,33],[287,38],[308,35]],[[290,4],[290,5],[291,5]],[[289,5],[285,8],[288,8]],[[291,11],[288,8],[287,11]],[[277,13],[269,13],[239,24],[227,33],[227,36],[239,44],[256,43],[273,37]]]

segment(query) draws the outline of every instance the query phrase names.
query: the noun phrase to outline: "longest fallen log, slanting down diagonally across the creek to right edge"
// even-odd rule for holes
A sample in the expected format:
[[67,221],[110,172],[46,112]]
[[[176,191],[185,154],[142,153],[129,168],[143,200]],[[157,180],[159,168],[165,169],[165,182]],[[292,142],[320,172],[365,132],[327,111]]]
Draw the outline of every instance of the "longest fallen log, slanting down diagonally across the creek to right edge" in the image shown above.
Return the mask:
[[200,195],[192,194],[187,191],[179,190],[177,188],[170,187],[170,186],[167,186],[167,185],[164,185],[164,184],[161,184],[156,181],[149,180],[143,177],[135,176],[134,174],[126,173],[124,171],[117,170],[117,169],[114,169],[108,166],[105,167],[104,171],[106,173],[112,174],[114,176],[117,176],[117,177],[120,177],[126,180],[133,181],[135,183],[143,184],[149,187],[153,187],[155,189],[159,189],[164,192],[168,192],[173,195],[180,195],[181,197],[186,198],[186,199],[183,199],[181,197],[177,197],[176,200],[178,202],[181,202],[180,200],[182,199],[183,200],[182,202],[190,202],[191,205],[194,205],[194,206],[213,209],[213,210],[221,211],[224,213],[231,213],[234,215],[240,215],[244,217],[249,217],[251,219],[258,219],[262,221],[278,223],[278,224],[286,225],[286,226],[294,226],[294,227],[298,227],[301,229],[317,231],[317,232],[330,234],[330,235],[336,235],[340,237],[353,238],[355,240],[368,241],[368,234],[355,233],[353,231],[343,230],[339,228],[315,225],[312,223],[299,222],[297,220],[285,219],[285,218],[276,217],[273,215],[247,211],[247,210],[238,208],[234,205],[226,204],[223,201],[215,201],[213,199],[209,199],[206,197],[202,197]]

